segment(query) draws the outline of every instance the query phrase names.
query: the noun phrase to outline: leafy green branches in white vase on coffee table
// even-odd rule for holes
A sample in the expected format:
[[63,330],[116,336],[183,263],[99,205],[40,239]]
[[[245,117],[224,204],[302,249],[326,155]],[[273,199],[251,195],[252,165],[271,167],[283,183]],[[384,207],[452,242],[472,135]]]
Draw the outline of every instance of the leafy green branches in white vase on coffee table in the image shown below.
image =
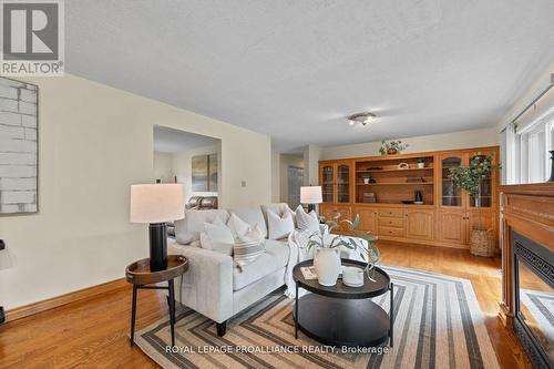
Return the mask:
[[[373,270],[376,265],[379,264],[381,254],[379,253],[379,249],[373,245],[373,243],[377,240],[376,236],[371,236],[367,232],[356,229],[360,224],[359,215],[356,215],[353,222],[350,219],[340,219],[340,213],[338,212],[331,219],[325,221],[322,216],[320,216],[319,218],[328,225],[329,233],[338,228],[340,226],[340,223],[343,223],[348,225],[349,230],[352,232],[356,237],[337,236],[331,239],[330,244],[326,245],[326,243],[324,242],[324,234],[315,233],[309,237],[306,248],[310,250],[312,248],[336,248],[343,246],[348,249],[357,250],[360,254],[362,260],[365,260],[367,257],[368,265],[363,270],[366,270],[368,277],[372,279],[370,276],[370,271]],[[366,243],[363,243],[363,240],[366,240],[367,245]]]

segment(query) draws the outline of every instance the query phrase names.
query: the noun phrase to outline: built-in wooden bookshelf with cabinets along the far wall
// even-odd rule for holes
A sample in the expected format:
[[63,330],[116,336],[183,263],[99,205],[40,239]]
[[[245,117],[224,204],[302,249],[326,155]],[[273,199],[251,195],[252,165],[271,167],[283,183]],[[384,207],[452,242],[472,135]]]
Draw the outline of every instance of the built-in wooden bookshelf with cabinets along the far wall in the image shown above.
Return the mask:
[[[381,239],[468,248],[479,212],[475,199],[449,178],[450,168],[468,165],[479,153],[493,152],[496,161],[497,146],[320,161],[320,215],[359,215],[359,229]],[[418,158],[424,158],[423,167],[418,167]],[[496,235],[497,178],[493,173],[481,187],[481,214]],[[416,192],[421,193],[423,204],[413,203]],[[349,230],[342,224],[336,232]]]

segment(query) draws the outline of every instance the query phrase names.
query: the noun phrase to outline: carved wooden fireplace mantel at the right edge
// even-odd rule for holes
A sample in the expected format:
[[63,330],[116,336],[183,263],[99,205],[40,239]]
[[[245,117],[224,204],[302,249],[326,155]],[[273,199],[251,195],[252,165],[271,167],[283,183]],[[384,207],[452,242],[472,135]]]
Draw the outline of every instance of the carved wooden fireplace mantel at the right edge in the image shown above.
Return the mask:
[[554,183],[500,187],[502,301],[500,318],[513,329],[514,294],[512,230],[554,250]]

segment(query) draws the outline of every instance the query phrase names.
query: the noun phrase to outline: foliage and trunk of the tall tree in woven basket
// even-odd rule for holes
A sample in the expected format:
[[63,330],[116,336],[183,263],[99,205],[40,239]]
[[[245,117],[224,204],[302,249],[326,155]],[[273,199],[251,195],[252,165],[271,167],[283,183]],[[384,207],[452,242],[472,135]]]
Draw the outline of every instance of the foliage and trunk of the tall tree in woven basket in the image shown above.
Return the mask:
[[449,168],[449,178],[454,185],[465,191],[475,198],[475,207],[479,211],[479,229],[483,230],[481,218],[481,184],[492,173],[495,165],[492,164],[494,152],[490,155],[476,153],[470,161],[470,165],[461,165]]

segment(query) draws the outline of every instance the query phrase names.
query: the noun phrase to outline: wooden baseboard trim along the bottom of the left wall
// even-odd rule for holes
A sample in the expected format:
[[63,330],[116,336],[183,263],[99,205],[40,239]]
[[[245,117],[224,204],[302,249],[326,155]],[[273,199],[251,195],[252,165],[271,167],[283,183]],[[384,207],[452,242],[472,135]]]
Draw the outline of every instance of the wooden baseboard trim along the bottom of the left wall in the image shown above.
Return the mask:
[[13,321],[17,319],[21,319],[24,317],[29,317],[31,315],[47,311],[63,305],[68,305],[71,303],[94,298],[99,295],[106,294],[113,290],[117,290],[121,288],[130,287],[131,285],[125,280],[125,278],[115,279],[112,281],[107,281],[101,285],[86,287],[83,289],[79,289],[65,295],[52,297],[42,301],[20,306],[14,309],[10,309],[6,311],[6,321]]

